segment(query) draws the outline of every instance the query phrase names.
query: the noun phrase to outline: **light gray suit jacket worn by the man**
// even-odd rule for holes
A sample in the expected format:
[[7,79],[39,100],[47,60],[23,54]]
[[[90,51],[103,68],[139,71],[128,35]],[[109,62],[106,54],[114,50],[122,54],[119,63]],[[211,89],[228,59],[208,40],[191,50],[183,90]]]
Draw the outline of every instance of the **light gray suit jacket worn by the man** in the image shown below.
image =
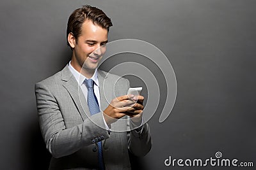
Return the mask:
[[[127,94],[128,80],[100,70],[98,78],[101,110],[108,107],[111,99]],[[40,129],[47,150],[52,154],[49,169],[97,167],[97,139],[102,141],[106,169],[131,169],[128,150],[136,156],[143,156],[151,148],[148,124],[144,124],[139,132],[109,134],[102,128],[102,111],[90,116],[86,99],[67,66],[36,83],[35,94]],[[123,120],[122,124],[118,121],[111,125],[111,129],[124,130],[131,125],[129,120]]]

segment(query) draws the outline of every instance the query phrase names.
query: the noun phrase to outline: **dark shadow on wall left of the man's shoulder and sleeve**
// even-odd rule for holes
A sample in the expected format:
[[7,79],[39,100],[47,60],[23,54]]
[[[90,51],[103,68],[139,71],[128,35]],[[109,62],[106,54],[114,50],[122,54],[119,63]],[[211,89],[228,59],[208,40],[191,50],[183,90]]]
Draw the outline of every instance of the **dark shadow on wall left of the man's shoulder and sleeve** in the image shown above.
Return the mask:
[[[54,67],[45,67],[47,70],[41,70],[40,75],[38,75],[38,81],[46,78],[47,74],[49,73],[52,75],[58,71],[61,71],[61,69],[63,69],[63,67],[65,67],[70,61],[70,59],[70,49],[68,47],[63,48],[63,50],[56,55],[56,58],[51,60],[51,66]],[[31,97],[33,97],[33,100],[35,100],[35,95]],[[29,111],[28,115],[37,115],[35,103],[33,103],[31,108],[35,108],[35,110]],[[22,132],[22,138],[20,139],[20,164],[22,164],[22,167],[20,167],[20,169],[48,169],[51,160],[51,153],[47,151],[44,139],[42,138],[38,117],[33,120],[28,120],[26,124],[23,124]]]

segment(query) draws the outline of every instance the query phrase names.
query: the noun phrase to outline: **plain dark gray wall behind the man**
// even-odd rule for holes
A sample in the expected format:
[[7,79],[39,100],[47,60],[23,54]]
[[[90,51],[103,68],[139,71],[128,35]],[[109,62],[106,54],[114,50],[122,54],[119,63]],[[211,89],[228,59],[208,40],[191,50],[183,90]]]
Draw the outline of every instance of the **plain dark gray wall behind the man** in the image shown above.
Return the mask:
[[[134,38],[156,45],[177,76],[177,101],[170,117],[159,124],[166,91],[160,69],[131,53],[118,60],[114,56],[102,66],[108,70],[114,62],[138,61],[159,80],[161,104],[148,122],[153,147],[143,159],[133,159],[136,167],[199,169],[165,167],[164,160],[207,159],[218,151],[223,158],[256,166],[256,1],[4,0],[0,4],[1,169],[47,169],[50,155],[38,127],[34,84],[70,60],[67,19],[82,4],[98,6],[112,18],[109,41]],[[140,84],[130,78],[132,85]]]

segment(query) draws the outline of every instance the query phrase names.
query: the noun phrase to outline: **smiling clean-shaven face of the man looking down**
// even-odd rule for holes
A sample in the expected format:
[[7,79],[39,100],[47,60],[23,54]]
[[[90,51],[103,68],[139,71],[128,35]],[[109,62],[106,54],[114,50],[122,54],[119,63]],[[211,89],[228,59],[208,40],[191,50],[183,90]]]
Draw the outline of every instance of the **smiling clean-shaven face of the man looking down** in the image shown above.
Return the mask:
[[[81,29],[81,35],[74,39],[72,66],[80,71],[81,68],[88,73],[94,73],[102,55],[106,52],[108,30],[94,25],[91,20],[86,20]],[[85,70],[84,70],[85,69]]]

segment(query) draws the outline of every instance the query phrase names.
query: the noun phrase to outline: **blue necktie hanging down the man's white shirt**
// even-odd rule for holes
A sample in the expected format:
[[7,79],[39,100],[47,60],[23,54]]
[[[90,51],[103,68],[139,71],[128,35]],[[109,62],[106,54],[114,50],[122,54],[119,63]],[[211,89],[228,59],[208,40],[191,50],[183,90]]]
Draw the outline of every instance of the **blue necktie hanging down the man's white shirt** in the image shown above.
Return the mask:
[[[100,108],[99,108],[97,98],[96,98],[96,96],[93,92],[93,80],[88,79],[88,80],[84,80],[84,82],[85,82],[86,87],[88,89],[88,98],[87,98],[88,107],[89,107],[91,115],[94,115],[94,114],[100,112]],[[99,152],[98,152],[99,169],[105,169],[104,168],[104,162],[103,162],[101,141],[99,141],[97,143],[97,145],[98,145],[98,148],[99,148]]]

